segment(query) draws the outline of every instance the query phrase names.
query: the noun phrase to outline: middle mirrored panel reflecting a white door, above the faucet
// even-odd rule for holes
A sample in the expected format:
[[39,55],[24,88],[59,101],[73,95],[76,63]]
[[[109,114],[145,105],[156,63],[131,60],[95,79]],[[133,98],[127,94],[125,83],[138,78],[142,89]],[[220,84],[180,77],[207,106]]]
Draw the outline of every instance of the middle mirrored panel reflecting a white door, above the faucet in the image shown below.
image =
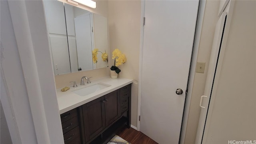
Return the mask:
[[92,13],[69,4],[64,4],[64,7],[71,72],[78,71],[78,68],[92,70],[92,48],[94,48]]

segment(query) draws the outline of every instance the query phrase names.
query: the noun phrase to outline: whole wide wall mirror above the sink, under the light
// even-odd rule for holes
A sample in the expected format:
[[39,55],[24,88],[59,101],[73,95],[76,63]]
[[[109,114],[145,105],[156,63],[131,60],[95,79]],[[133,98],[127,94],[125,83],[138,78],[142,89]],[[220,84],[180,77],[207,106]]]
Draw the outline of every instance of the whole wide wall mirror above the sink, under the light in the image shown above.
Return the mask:
[[[101,59],[108,53],[106,17],[58,0],[45,0],[44,6],[55,75],[108,66]],[[95,48],[100,51],[97,63],[92,60]]]

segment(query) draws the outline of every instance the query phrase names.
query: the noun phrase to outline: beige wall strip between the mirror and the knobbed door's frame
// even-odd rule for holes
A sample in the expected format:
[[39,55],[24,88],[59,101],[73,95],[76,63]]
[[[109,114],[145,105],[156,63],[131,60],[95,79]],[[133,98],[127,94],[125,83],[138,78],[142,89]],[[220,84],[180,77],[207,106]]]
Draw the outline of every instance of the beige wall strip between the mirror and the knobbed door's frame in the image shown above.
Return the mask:
[[140,54],[140,0],[109,0],[108,24],[110,31],[110,61],[114,65],[112,52],[118,48],[126,55],[127,62],[118,66],[119,77],[135,80],[132,84],[131,124],[137,126],[138,76]]

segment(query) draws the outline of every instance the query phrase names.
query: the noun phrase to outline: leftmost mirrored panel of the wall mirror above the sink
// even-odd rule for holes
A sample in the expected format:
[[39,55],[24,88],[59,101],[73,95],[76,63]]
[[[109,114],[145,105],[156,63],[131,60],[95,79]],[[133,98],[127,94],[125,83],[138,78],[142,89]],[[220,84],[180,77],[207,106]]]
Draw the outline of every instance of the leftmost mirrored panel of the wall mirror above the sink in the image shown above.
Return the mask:
[[54,74],[70,73],[71,70],[63,3],[57,0],[45,0],[44,5]]

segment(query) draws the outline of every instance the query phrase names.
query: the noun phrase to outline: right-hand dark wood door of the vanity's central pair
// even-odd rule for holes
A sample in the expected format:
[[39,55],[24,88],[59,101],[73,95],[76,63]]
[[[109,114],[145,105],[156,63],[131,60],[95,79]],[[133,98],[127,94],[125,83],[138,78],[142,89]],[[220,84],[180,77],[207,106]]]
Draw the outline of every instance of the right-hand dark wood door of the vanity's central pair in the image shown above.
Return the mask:
[[106,94],[105,98],[105,115],[106,115],[106,126],[114,122],[120,115],[120,96],[118,90]]

